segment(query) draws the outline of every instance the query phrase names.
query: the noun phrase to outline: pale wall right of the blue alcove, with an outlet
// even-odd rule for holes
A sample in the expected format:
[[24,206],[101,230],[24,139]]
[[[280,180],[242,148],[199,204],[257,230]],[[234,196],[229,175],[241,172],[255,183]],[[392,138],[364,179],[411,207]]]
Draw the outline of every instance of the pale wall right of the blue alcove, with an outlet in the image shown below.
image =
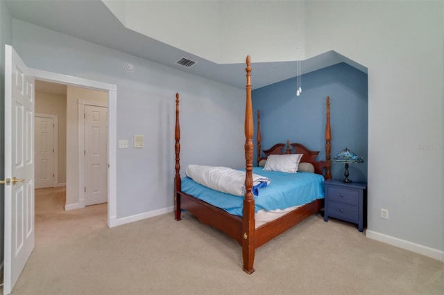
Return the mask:
[[334,50],[368,68],[367,235],[441,260],[443,6],[308,1],[305,15],[307,58]]

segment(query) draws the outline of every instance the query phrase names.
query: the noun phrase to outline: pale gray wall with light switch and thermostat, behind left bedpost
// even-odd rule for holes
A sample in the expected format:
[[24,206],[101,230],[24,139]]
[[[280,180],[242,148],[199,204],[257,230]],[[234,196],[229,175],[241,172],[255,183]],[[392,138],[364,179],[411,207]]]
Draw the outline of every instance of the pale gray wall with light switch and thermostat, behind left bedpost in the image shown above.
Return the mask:
[[[188,163],[244,166],[245,90],[16,19],[12,32],[28,66],[117,85],[117,138],[130,146],[117,150],[117,220],[173,206],[176,92],[182,172]],[[131,147],[134,134],[144,134],[143,149]]]

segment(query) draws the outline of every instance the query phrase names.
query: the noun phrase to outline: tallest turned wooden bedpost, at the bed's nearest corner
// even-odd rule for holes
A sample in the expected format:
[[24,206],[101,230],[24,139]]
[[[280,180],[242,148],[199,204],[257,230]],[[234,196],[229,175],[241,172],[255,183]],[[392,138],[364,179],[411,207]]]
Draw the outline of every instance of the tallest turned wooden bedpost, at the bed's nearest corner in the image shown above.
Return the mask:
[[244,271],[252,274],[255,269],[255,200],[253,199],[253,104],[251,102],[251,66],[250,55],[246,58],[246,107],[245,107],[245,198],[244,216],[242,217],[242,256]]

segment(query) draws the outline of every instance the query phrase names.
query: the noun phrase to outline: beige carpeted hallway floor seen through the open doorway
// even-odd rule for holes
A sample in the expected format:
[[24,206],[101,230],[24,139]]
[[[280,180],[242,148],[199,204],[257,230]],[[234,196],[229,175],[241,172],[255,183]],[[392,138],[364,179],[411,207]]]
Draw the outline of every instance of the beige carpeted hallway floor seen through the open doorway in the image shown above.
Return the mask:
[[35,190],[35,244],[83,235],[107,226],[108,204],[65,211],[66,187]]

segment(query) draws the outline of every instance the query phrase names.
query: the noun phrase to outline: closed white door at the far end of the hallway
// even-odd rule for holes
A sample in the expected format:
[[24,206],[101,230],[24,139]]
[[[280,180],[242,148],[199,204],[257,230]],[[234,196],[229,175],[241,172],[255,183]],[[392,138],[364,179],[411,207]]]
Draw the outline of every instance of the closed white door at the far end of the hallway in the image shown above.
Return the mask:
[[35,188],[54,186],[54,119],[36,116]]

